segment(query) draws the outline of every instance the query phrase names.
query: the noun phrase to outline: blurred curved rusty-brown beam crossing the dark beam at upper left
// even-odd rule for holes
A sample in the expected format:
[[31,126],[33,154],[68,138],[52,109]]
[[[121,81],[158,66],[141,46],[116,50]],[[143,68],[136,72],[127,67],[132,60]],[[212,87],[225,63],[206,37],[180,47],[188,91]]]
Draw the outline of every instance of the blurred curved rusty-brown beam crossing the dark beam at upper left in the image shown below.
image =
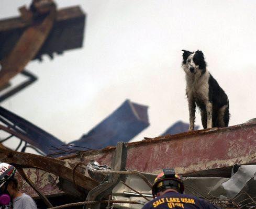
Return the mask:
[[49,14],[41,22],[28,27],[13,50],[1,60],[0,88],[23,71],[28,62],[36,56],[51,31],[55,16],[55,6],[51,6]]

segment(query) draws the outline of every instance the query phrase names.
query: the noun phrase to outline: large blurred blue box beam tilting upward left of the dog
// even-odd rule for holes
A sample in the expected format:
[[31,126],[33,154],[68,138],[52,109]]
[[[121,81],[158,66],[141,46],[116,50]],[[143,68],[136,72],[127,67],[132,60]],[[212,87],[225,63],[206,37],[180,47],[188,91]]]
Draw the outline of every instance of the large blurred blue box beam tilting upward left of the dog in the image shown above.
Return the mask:
[[126,100],[117,110],[95,126],[90,132],[74,141],[75,146],[99,149],[128,142],[149,126],[148,107]]

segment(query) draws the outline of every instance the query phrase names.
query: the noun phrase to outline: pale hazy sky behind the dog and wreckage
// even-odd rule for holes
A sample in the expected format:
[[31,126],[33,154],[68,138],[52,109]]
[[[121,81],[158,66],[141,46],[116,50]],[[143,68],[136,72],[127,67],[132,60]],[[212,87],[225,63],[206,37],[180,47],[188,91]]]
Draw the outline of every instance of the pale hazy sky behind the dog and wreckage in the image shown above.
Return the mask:
[[[84,47],[30,62],[39,79],[4,108],[69,142],[129,98],[149,106],[150,126],[133,141],[155,137],[177,120],[188,122],[181,50],[199,49],[229,97],[230,125],[256,117],[256,1],[55,2],[87,14]],[[1,0],[0,18],[29,3]]]

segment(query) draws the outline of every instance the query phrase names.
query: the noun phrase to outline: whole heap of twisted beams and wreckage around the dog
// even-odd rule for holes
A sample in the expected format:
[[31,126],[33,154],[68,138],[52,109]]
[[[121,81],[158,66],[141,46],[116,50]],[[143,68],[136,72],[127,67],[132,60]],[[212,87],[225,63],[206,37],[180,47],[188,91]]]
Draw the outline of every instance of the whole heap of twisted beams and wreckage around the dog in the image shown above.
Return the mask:
[[[80,7],[58,10],[51,0],[34,0],[20,13],[0,21],[0,91],[5,91],[0,102],[35,82],[37,77],[25,71],[29,61],[43,54],[53,58],[83,43]],[[29,79],[7,91],[18,73]],[[147,110],[126,100],[79,140],[65,144],[0,107],[5,133],[0,161],[17,168],[22,190],[40,208],[141,208],[152,199],[152,183],[162,168],[175,168],[183,176],[187,194],[221,208],[256,207],[255,120],[191,132],[179,121],[159,137],[128,143],[149,126]],[[13,137],[20,140],[16,150],[2,144]],[[27,147],[41,155],[25,153]]]

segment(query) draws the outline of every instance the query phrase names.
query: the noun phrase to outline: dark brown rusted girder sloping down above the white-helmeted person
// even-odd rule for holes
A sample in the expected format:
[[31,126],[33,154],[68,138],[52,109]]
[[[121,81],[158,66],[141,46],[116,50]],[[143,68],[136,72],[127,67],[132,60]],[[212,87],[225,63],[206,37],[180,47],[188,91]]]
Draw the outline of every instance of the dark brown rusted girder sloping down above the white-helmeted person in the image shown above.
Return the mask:
[[[0,161],[7,162],[18,168],[38,168],[49,173],[53,173],[63,179],[72,182],[73,170],[64,165],[64,161],[50,157],[43,157],[30,153],[20,153],[6,150],[0,147]],[[84,176],[80,172],[75,172],[75,180],[80,187],[91,190],[98,185],[98,182]]]

